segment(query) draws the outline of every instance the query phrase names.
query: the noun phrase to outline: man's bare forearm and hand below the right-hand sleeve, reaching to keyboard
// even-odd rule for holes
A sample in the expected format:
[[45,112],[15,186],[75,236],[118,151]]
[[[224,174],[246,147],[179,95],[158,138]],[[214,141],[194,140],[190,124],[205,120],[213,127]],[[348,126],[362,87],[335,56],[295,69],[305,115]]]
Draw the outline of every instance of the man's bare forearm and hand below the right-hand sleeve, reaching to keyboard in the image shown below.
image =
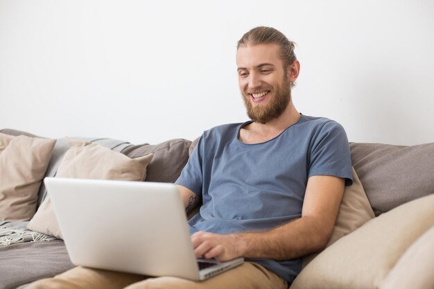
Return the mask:
[[228,261],[240,256],[287,260],[318,252],[331,236],[344,189],[345,181],[339,177],[309,177],[301,218],[268,231],[227,235],[199,231],[191,236],[195,254]]

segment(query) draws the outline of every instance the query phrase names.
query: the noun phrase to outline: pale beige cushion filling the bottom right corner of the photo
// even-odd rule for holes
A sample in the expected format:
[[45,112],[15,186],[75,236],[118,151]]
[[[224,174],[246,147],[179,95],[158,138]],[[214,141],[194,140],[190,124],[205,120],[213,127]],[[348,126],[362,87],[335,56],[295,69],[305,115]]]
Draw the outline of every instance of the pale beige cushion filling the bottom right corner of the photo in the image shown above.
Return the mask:
[[434,288],[434,227],[408,247],[380,289]]

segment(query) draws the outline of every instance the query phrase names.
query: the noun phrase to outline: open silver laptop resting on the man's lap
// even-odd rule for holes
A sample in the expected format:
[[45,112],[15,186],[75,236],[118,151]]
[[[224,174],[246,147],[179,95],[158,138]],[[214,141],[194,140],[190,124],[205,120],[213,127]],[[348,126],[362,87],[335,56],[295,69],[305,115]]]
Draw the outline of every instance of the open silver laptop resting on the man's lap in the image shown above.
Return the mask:
[[44,179],[74,265],[195,281],[241,265],[196,259],[175,184]]

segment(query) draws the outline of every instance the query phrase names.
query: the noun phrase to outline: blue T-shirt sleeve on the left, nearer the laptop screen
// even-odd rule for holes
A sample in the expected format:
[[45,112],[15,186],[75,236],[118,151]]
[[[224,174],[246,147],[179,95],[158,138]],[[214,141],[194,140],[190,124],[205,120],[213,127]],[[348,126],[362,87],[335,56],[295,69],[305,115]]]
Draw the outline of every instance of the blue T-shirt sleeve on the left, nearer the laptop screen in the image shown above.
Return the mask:
[[203,135],[200,137],[196,148],[189,157],[189,161],[182,169],[180,177],[177,178],[175,184],[180,184],[196,193],[202,195],[202,156],[203,156]]

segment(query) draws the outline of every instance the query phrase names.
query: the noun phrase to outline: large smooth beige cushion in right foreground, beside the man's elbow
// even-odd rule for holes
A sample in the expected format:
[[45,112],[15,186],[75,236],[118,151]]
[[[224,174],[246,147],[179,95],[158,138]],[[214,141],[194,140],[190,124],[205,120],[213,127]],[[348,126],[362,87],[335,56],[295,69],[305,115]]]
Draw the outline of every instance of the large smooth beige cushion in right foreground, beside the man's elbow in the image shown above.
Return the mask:
[[340,238],[300,272],[291,289],[378,288],[403,252],[434,225],[434,195],[413,200]]

